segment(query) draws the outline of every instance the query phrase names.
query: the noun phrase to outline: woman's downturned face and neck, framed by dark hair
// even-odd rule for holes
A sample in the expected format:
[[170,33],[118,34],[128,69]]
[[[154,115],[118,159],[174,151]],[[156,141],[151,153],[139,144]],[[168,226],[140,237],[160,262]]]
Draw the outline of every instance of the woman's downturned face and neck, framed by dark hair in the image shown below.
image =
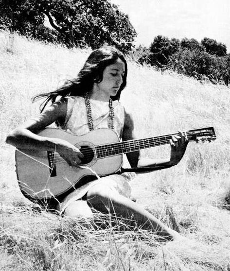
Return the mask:
[[114,64],[104,69],[102,81],[94,83],[93,94],[97,94],[103,101],[108,101],[110,96],[116,96],[123,83],[124,73],[124,62],[118,58]]

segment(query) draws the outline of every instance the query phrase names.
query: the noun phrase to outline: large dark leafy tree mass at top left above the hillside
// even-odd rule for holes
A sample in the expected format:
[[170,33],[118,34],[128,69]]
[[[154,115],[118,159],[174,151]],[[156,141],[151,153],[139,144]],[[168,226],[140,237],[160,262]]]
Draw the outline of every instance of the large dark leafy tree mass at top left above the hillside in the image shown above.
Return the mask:
[[[126,52],[132,49],[137,35],[128,16],[109,0],[0,0],[0,3],[5,10],[4,18],[0,15],[2,20],[10,20],[11,11],[17,17],[17,24],[10,20],[14,30],[36,38],[38,26],[47,32],[44,28],[47,16],[52,34],[69,47],[87,44],[95,49],[108,44]],[[27,24],[33,29],[26,28]]]

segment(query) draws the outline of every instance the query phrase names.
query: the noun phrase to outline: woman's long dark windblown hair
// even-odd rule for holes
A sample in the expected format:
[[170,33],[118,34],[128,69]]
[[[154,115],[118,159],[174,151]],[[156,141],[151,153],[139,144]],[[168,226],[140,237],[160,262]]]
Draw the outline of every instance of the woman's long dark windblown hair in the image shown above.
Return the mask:
[[92,89],[95,82],[100,83],[103,80],[104,69],[107,66],[114,64],[119,58],[124,62],[125,66],[123,83],[118,90],[117,95],[111,97],[113,101],[119,100],[121,92],[126,86],[127,62],[124,55],[119,50],[110,46],[92,51],[76,78],[66,81],[65,85],[62,85],[52,92],[38,94],[32,100],[35,101],[45,98],[45,101],[42,102],[40,107],[42,112],[48,102],[55,102],[59,96],[61,98],[67,96],[83,96],[84,93]]

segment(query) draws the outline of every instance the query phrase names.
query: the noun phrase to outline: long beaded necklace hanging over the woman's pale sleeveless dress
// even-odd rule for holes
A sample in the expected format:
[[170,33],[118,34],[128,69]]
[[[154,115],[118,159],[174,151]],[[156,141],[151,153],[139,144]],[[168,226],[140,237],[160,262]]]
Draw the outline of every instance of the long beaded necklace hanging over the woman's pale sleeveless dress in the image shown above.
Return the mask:
[[[88,118],[88,128],[89,131],[92,131],[94,129],[93,125],[93,119],[92,119],[92,110],[91,110],[91,104],[89,101],[89,95],[88,92],[84,94],[84,99],[86,103],[86,112],[87,112],[87,118]],[[113,111],[113,101],[110,98],[108,102],[109,106],[109,122],[108,122],[108,128],[114,130],[114,111]]]

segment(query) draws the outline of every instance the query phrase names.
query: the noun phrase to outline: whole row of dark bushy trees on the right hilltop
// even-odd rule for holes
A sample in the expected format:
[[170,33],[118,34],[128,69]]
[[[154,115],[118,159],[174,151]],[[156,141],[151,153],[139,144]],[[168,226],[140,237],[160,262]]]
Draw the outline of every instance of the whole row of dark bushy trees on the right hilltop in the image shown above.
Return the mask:
[[230,83],[230,54],[226,45],[204,38],[200,43],[192,38],[178,39],[158,35],[150,48],[138,48],[138,61],[160,69],[169,68],[178,73],[210,80],[212,83]]

